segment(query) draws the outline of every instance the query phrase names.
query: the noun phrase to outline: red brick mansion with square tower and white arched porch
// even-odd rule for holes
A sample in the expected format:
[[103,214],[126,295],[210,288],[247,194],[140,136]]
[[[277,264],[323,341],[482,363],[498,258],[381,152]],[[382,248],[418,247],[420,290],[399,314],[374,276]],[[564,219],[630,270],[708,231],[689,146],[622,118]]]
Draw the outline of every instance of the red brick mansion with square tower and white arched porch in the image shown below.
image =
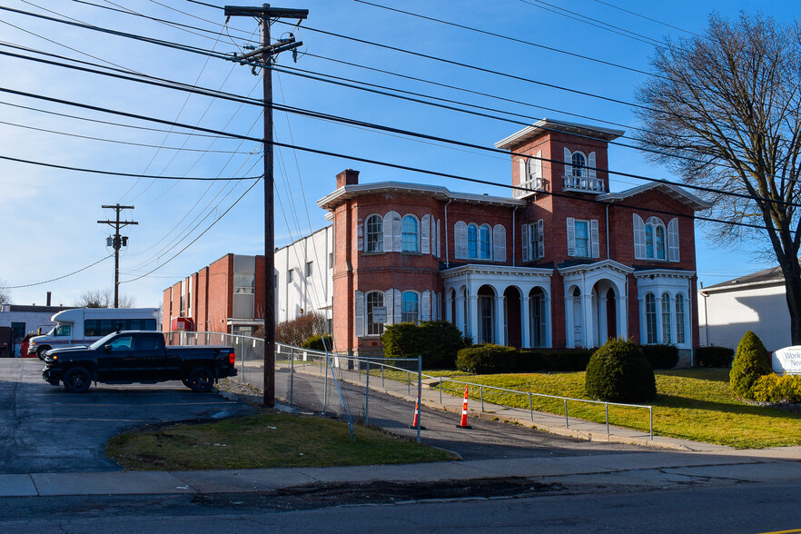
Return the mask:
[[[548,120],[496,147],[511,197],[337,176],[331,212],[334,351],[366,353],[387,324],[444,319],[474,341],[593,347],[610,337],[698,345],[694,213],[675,185],[609,193],[623,132]],[[385,319],[384,319],[385,318]]]

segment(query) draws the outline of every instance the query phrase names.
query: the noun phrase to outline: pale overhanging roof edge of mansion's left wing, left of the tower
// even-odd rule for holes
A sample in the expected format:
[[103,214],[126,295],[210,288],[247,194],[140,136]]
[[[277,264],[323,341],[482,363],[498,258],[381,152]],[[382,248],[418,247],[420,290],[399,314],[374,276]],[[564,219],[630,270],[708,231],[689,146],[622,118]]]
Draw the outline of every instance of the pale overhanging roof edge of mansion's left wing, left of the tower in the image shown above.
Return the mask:
[[445,187],[438,185],[424,185],[422,183],[380,182],[356,183],[343,185],[331,194],[322,197],[317,205],[324,210],[332,210],[346,200],[362,194],[374,193],[401,193],[420,194],[437,200],[454,200],[462,203],[483,204],[492,206],[525,206],[525,199],[509,198],[505,196],[491,196],[489,194],[453,193]]

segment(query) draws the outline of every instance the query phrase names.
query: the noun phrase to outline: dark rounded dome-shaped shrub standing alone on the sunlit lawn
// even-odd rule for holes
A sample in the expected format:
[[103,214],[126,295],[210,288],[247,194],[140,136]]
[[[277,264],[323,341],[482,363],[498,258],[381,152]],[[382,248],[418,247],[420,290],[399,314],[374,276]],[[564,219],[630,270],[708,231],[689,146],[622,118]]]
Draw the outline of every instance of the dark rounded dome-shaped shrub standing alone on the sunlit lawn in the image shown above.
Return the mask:
[[631,341],[609,340],[589,359],[584,389],[600,401],[644,402],[657,396],[654,370]]

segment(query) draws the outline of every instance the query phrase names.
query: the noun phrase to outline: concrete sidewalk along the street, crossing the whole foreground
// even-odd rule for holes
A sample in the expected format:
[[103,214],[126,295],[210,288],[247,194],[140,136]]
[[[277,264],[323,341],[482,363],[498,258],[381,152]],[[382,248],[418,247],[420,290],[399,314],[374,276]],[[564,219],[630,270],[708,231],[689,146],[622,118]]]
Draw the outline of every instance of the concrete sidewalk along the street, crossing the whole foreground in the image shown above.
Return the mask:
[[795,483],[801,478],[801,462],[771,459],[769,455],[752,455],[752,452],[712,455],[665,451],[334,468],[0,475],[0,497],[272,492],[321,484],[420,483],[507,477],[536,479],[545,483],[654,487],[710,479]]

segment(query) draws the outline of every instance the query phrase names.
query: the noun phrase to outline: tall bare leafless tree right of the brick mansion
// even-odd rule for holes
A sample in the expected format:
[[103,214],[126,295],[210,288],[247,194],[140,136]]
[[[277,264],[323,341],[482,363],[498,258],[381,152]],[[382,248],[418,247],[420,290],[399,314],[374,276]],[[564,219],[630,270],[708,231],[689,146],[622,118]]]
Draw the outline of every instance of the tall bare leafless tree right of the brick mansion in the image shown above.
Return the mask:
[[652,64],[656,76],[638,91],[641,147],[686,183],[716,190],[699,194],[725,222],[707,226],[719,243],[765,244],[801,344],[801,26],[712,15],[705,35],[668,42]]

